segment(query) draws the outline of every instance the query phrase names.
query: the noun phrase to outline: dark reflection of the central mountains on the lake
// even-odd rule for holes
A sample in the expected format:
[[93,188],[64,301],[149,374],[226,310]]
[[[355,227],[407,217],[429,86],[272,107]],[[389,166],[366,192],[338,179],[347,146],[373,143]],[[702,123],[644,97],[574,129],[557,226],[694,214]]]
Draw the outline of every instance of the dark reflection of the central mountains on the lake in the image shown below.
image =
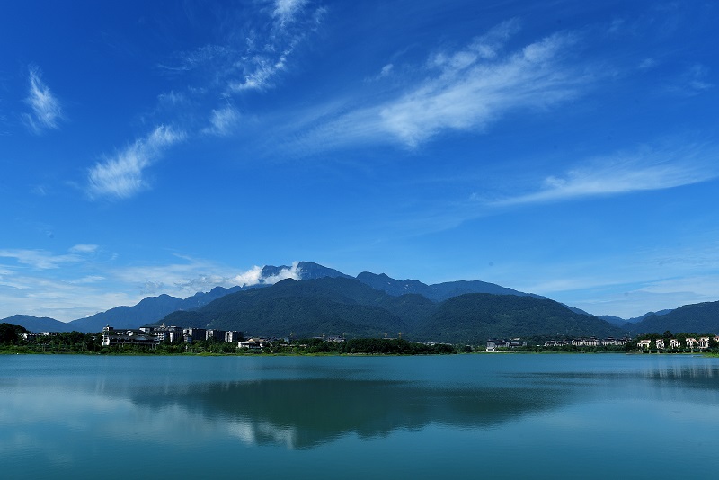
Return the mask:
[[488,428],[555,408],[568,395],[554,387],[443,388],[415,382],[312,378],[217,382],[190,389],[144,388],[138,406],[179,406],[188,418],[226,425],[241,440],[313,448],[348,433],[386,436],[431,423]]

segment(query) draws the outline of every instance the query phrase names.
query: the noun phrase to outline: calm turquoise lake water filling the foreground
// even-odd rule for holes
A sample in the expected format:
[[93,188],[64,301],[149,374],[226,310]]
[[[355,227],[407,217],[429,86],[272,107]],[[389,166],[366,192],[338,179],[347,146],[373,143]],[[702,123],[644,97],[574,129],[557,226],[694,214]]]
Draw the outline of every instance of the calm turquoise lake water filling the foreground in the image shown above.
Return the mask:
[[653,478],[717,440],[703,357],[0,357],[5,478]]

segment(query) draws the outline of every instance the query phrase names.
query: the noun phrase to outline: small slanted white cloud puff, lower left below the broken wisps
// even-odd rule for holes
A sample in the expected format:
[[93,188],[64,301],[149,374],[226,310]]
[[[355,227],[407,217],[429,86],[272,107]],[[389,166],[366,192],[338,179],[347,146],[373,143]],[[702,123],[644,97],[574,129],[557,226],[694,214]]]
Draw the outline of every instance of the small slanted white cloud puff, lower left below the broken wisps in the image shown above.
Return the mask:
[[182,141],[185,135],[170,127],[157,127],[125,150],[88,172],[88,193],[92,198],[129,198],[146,188],[144,170],[162,156],[164,150]]

